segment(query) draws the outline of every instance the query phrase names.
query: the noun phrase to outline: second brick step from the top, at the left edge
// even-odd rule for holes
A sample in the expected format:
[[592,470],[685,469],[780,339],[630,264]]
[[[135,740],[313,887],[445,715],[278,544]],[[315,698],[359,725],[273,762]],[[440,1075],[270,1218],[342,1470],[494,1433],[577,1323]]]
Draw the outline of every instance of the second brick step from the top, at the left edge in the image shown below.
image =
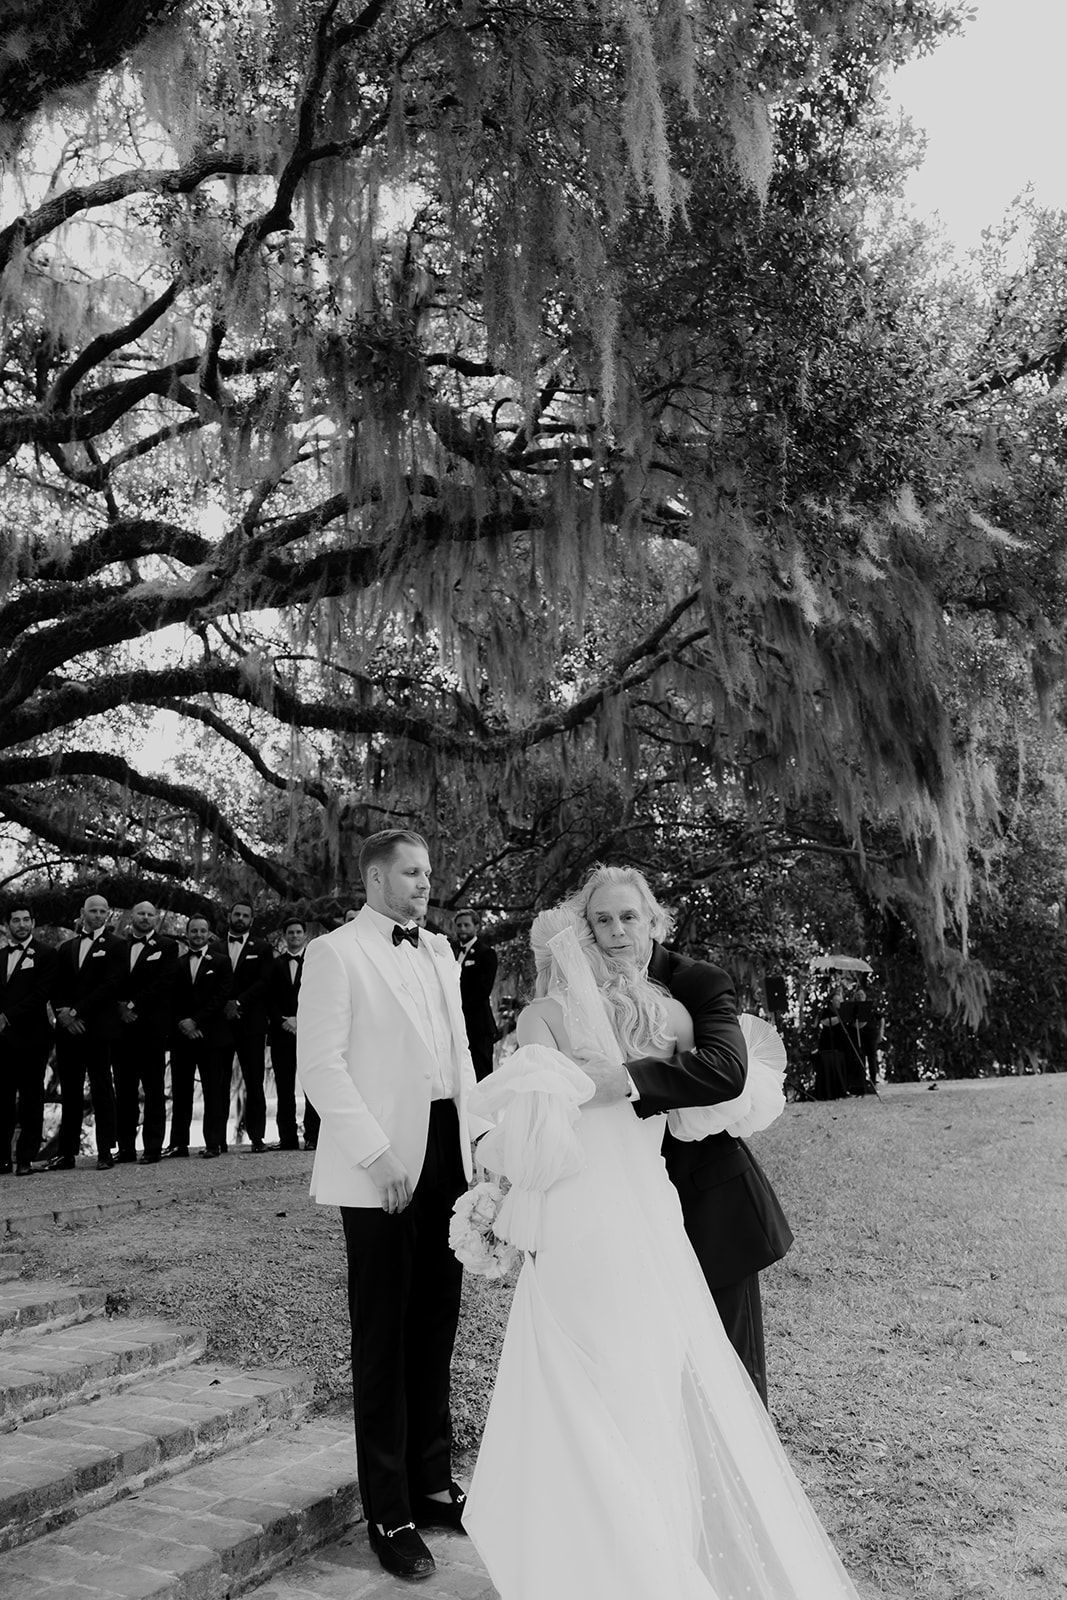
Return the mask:
[[0,1430],[126,1387],[152,1368],[186,1366],[203,1350],[197,1328],[157,1317],[101,1317],[6,1338],[0,1341]]

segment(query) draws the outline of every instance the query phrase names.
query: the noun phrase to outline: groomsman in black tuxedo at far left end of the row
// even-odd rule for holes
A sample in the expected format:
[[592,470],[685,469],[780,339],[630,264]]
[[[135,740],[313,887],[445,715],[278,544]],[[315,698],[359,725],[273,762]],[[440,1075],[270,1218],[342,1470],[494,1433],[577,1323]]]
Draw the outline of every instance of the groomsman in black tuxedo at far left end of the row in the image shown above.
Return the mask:
[[11,1141],[18,1123],[14,1171],[29,1176],[40,1149],[45,1118],[45,1069],[51,1053],[48,992],[54,952],[34,938],[34,912],[8,912],[11,944],[0,950],[0,1173],[11,1171]]

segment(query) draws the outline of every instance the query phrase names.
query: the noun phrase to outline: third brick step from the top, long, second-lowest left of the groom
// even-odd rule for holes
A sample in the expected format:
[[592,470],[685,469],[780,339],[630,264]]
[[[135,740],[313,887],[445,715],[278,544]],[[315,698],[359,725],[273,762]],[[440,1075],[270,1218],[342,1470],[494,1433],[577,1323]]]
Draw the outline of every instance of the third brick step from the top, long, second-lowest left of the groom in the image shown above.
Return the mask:
[[0,1435],[0,1550],[306,1410],[312,1378],[197,1365]]

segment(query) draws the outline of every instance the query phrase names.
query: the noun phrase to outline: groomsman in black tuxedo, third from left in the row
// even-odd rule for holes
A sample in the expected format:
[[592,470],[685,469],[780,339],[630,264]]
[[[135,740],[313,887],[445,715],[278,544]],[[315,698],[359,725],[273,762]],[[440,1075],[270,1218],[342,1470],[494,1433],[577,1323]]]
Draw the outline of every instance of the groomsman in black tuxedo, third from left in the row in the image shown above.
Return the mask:
[[166,1133],[166,1043],[171,1030],[171,990],[178,971],[178,942],[158,931],[152,901],[138,901],[130,915],[118,984],[118,1035],[112,1048],[115,1078],[117,1162],[136,1162],[141,1093],[144,1126],[141,1160],[163,1154]]

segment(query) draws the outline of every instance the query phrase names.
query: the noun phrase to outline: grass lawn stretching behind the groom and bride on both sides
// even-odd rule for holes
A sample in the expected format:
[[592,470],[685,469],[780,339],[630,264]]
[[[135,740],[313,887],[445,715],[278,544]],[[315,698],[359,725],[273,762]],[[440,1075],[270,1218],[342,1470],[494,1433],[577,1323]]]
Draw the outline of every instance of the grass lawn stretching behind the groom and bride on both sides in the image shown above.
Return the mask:
[[[1067,1075],[790,1106],[753,1144],[797,1234],[763,1277],[771,1408],[864,1597],[1059,1600]],[[174,1184],[162,1210],[27,1235],[26,1270],[194,1322],[216,1357],[310,1366],[322,1403],[347,1406],[344,1248],[336,1213],[307,1200],[310,1157],[230,1160],[278,1176],[240,1187],[222,1163],[182,1162],[21,1181],[21,1205],[64,1179],[86,1202],[102,1198],[94,1181]],[[454,1411],[469,1459],[509,1299],[467,1280]]]

